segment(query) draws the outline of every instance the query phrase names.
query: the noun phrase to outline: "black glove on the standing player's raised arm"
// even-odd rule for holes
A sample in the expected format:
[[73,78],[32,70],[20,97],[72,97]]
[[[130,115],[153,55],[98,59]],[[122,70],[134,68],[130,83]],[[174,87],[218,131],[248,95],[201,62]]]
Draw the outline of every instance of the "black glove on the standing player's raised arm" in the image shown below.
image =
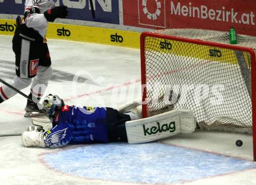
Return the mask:
[[44,12],[44,16],[49,22],[53,22],[56,18],[66,18],[67,14],[69,14],[67,6],[56,6]]

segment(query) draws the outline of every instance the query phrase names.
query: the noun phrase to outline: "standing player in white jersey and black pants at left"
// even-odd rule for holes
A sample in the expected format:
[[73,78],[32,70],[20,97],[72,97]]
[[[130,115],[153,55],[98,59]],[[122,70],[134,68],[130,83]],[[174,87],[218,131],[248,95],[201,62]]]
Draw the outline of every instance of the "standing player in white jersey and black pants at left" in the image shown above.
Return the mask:
[[[13,37],[16,75],[10,85],[24,89],[31,84],[30,99],[25,108],[25,117],[41,115],[37,102],[40,101],[52,75],[51,57],[45,34],[49,22],[65,18],[66,6],[55,7],[56,0],[27,0],[24,17],[17,17],[17,28]],[[32,81],[33,78],[33,81]],[[0,103],[16,95],[16,92],[3,85],[0,88]],[[32,114],[37,112],[41,114]]]

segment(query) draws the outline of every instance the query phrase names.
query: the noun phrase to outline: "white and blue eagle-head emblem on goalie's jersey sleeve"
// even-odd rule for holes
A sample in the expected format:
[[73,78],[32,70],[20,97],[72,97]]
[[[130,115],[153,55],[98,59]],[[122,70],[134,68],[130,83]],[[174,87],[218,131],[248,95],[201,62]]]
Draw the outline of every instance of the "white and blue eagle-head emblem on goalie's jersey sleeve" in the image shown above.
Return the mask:
[[62,145],[63,143],[61,143],[61,140],[66,137],[66,132],[67,128],[63,130],[58,130],[57,132],[50,133],[49,135],[48,133],[46,133],[48,136],[44,140],[45,144],[48,147],[56,147],[58,146],[58,144]]

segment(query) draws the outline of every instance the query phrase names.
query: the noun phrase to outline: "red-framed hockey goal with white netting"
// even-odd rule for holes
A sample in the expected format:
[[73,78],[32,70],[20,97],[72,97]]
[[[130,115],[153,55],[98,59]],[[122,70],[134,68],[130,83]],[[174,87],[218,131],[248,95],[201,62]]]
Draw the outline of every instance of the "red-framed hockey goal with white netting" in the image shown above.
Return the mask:
[[227,32],[212,30],[143,32],[143,117],[169,110],[166,97],[178,93],[174,108],[193,110],[198,124],[250,130],[256,161],[256,38],[237,35],[237,41],[230,45]]

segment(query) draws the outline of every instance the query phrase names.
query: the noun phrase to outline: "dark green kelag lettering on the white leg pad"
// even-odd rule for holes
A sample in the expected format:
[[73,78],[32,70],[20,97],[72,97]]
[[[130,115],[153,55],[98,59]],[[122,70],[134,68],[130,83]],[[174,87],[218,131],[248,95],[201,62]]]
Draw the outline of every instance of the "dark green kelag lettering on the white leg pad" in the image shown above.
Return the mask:
[[155,135],[157,133],[161,132],[175,132],[176,127],[175,127],[175,121],[170,122],[169,124],[163,124],[160,125],[159,122],[157,122],[157,126],[152,126],[151,128],[146,128],[145,125],[143,125],[143,131],[144,131],[144,136],[147,135]]

